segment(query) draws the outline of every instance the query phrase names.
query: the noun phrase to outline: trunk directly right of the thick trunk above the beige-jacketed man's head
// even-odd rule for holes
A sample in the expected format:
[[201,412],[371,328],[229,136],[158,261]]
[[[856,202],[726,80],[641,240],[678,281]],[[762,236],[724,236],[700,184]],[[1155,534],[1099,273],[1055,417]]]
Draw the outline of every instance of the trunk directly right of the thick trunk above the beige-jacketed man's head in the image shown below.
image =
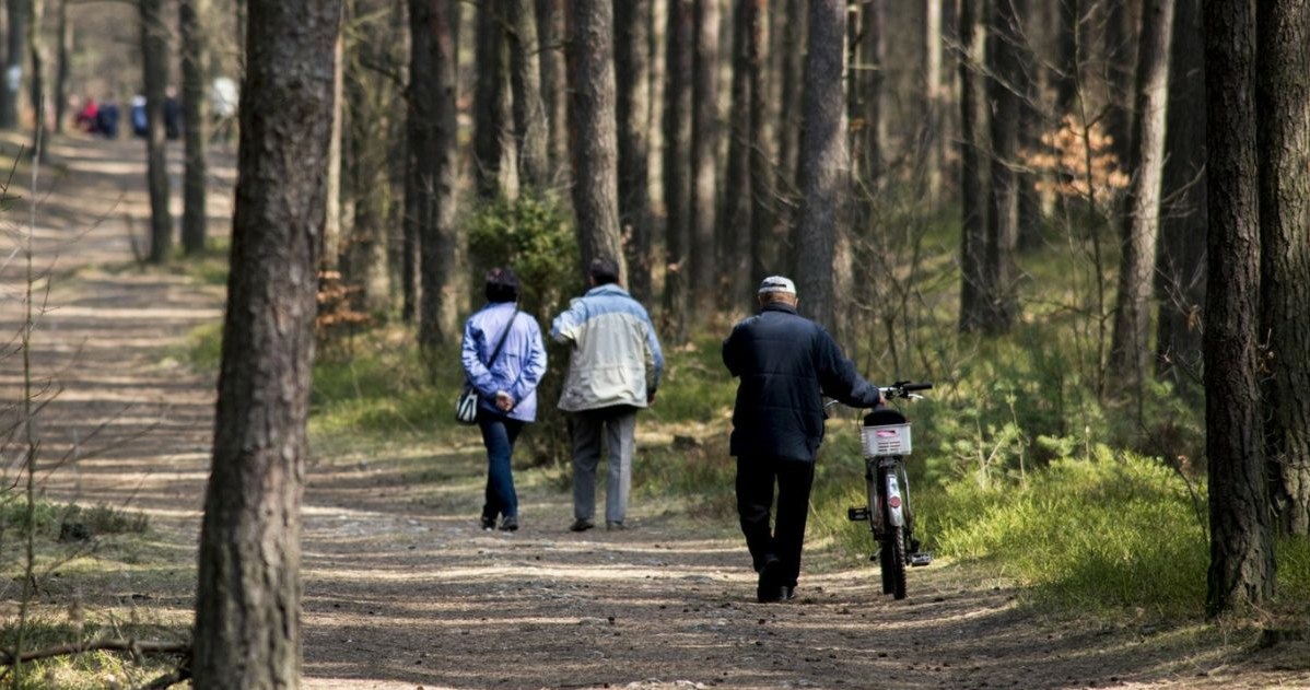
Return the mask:
[[618,219],[633,296],[651,295],[650,0],[614,3]]

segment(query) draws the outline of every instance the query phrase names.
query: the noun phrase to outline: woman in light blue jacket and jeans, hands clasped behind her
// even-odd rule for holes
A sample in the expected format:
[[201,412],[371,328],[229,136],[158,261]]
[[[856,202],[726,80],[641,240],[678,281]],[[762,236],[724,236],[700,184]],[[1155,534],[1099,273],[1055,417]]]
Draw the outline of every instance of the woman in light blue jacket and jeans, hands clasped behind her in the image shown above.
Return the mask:
[[537,384],[546,373],[546,348],[537,319],[519,312],[519,276],[514,271],[487,271],[486,297],[487,305],[464,325],[460,359],[465,380],[478,390],[478,427],[487,449],[482,529],[495,529],[499,516],[500,529],[514,532],[519,529],[514,443],[523,426],[537,419]]

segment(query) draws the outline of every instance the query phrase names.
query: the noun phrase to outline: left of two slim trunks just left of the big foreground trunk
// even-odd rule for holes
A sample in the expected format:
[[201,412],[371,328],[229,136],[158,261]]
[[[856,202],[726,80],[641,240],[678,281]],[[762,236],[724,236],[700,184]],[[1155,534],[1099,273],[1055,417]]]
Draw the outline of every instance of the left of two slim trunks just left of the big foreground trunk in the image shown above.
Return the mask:
[[169,215],[168,141],[164,137],[164,100],[168,89],[168,35],[162,0],[138,0],[141,22],[141,64],[145,84],[145,156],[151,195],[151,263],[162,263],[173,249]]

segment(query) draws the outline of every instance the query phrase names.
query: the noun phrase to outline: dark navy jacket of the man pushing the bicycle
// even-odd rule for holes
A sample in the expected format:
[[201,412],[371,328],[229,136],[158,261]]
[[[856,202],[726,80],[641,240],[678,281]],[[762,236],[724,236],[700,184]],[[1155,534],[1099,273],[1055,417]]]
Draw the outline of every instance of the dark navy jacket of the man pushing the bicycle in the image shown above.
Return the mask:
[[871,407],[878,388],[817,323],[773,302],[738,323],[723,340],[723,364],[738,385],[734,456],[776,456],[814,462],[823,443],[823,398]]

